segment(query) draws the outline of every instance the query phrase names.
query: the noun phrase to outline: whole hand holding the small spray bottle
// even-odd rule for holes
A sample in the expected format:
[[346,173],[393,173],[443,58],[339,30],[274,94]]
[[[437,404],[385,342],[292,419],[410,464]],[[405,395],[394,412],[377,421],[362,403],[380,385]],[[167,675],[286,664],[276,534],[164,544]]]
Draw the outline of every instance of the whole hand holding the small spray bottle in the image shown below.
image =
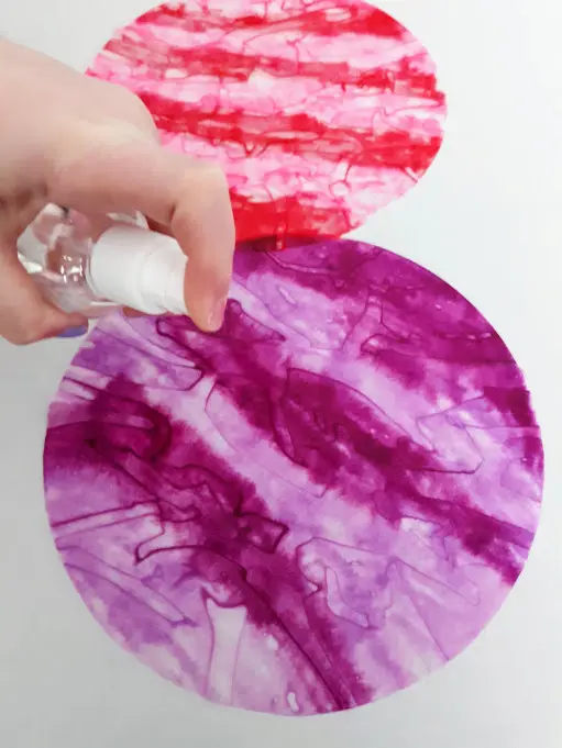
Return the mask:
[[16,344],[86,322],[48,304],[18,260],[18,236],[49,202],[144,213],[189,257],[185,294],[195,323],[220,326],[234,249],[222,171],[164,150],[148,111],[126,89],[0,40],[0,336]]

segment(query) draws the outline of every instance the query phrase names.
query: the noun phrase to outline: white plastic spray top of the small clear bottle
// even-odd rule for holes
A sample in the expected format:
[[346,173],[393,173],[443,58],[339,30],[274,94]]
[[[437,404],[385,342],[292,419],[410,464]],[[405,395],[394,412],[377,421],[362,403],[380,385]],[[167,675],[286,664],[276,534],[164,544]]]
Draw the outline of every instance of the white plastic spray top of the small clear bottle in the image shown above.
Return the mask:
[[170,236],[118,224],[91,252],[88,283],[98,297],[144,314],[187,314],[187,257]]

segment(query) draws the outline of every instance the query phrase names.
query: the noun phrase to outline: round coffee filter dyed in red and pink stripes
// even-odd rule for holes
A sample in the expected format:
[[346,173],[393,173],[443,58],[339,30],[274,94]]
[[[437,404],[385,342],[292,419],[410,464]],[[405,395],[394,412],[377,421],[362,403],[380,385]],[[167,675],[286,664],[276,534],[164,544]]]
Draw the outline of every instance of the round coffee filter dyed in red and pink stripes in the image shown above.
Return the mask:
[[442,141],[423,45],[357,0],[188,0],[117,32],[90,74],[162,142],[225,170],[239,239],[341,236],[414,187]]

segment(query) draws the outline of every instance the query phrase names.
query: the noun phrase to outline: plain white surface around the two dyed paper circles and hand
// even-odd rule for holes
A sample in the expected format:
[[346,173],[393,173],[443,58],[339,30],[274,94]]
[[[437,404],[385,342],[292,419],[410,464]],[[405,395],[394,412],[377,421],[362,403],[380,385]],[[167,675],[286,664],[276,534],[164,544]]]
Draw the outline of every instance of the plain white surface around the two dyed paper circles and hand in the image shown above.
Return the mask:
[[[0,343],[2,747],[562,746],[562,9],[557,0],[379,4],[428,45],[450,115],[420,187],[359,234],[455,286],[526,371],[547,485],[525,573],[464,654],[372,706],[275,719],[206,704],[109,639],[51,540],[45,415],[78,343]],[[1,0],[0,33],[84,68],[115,26],[147,8],[143,0]]]

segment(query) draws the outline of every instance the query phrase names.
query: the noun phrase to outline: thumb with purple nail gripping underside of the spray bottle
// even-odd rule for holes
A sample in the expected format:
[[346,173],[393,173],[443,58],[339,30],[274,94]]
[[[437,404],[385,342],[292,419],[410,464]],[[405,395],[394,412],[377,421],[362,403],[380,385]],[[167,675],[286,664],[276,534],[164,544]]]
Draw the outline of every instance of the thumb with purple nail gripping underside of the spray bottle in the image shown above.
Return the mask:
[[0,336],[26,345],[85,325],[82,314],[67,314],[43,299],[11,245],[0,237]]

